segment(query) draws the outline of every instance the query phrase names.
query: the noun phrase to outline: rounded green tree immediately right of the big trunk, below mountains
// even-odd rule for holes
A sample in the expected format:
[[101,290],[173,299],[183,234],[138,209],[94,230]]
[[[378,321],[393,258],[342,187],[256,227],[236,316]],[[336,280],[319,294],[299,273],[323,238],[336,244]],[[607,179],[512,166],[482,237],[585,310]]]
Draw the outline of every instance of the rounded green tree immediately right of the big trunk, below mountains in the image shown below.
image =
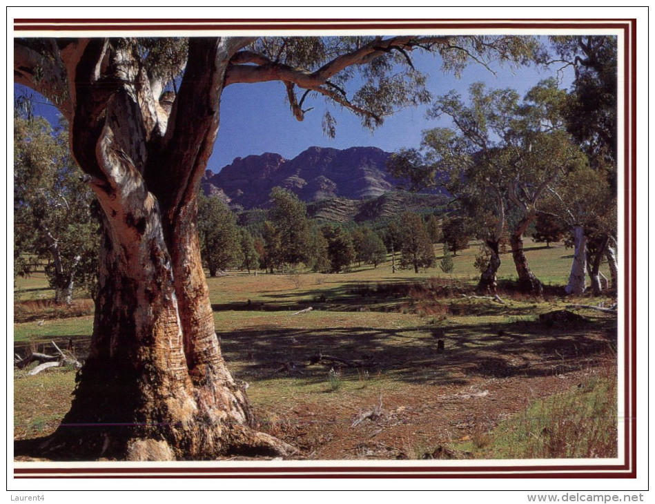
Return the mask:
[[198,196],[198,233],[202,260],[215,276],[220,270],[242,263],[237,219],[217,197]]

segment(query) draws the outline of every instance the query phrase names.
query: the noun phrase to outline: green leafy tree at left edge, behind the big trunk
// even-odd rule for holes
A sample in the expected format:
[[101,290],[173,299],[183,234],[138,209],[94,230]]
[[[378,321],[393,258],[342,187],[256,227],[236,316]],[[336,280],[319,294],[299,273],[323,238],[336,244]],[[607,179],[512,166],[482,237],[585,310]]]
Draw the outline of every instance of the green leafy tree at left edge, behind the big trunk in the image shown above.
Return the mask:
[[14,117],[14,275],[45,260],[57,302],[72,287],[95,289],[99,222],[95,197],[68,151],[68,131],[41,117]]

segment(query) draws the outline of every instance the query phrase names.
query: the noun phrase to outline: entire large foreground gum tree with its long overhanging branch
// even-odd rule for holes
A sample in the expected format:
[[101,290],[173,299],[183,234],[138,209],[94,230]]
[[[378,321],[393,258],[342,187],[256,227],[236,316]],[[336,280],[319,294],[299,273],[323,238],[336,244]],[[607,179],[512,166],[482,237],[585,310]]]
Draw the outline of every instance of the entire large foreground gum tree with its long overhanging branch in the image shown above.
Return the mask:
[[[90,353],[68,414],[40,449],[59,458],[211,459],[291,454],[257,432],[221,356],[197,232],[197,193],[223,90],[281,81],[302,120],[324,98],[367,128],[426,102],[416,51],[457,72],[525,62],[527,37],[15,39],[14,81],[70,123],[102,213]],[[335,120],[324,117],[333,133]]]

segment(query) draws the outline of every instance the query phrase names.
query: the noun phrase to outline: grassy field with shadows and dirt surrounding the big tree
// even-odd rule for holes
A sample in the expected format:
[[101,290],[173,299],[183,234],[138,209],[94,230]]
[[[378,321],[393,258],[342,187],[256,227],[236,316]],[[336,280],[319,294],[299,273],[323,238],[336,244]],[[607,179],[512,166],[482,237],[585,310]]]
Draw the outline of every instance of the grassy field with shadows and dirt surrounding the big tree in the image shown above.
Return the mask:
[[[571,302],[609,299],[563,297],[560,287],[568,277],[571,251],[529,242],[531,268],[553,286],[545,296],[501,291],[505,304],[471,298],[478,277],[476,253],[475,245],[458,253],[451,275],[438,268],[391,273],[388,262],[331,275],[208,278],[224,357],[235,378],[248,382],[260,429],[298,447],[297,458],[615,454],[616,422],[610,420],[616,416],[616,408],[611,410],[616,406],[616,319],[580,311],[583,319],[574,323],[539,321],[540,314]],[[516,278],[511,255],[502,255],[502,261],[500,280]],[[47,292],[45,279],[37,275],[19,280],[17,287],[21,295]],[[77,311],[50,313],[38,298],[22,299],[17,303],[21,322],[14,324],[19,353],[68,338],[84,351],[92,332],[88,302],[80,302]],[[307,307],[313,311],[293,315]],[[304,367],[317,351],[335,360]],[[339,360],[366,365],[354,368]],[[15,438],[55,429],[70,404],[74,375],[17,371]],[[567,436],[607,436],[578,452],[566,443],[543,441],[549,432],[559,432],[556,426],[571,416],[571,405],[580,404],[583,417],[602,418],[594,429],[566,427]],[[531,445],[534,438],[541,444]],[[514,445],[522,451],[508,450]]]

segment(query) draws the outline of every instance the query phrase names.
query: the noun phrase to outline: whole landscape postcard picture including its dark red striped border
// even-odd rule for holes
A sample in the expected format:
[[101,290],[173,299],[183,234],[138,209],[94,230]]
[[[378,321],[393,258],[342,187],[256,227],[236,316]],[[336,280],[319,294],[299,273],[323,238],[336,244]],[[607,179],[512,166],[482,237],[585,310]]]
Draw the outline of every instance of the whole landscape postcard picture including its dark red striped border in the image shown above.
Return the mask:
[[21,14],[14,478],[634,477],[635,19]]

